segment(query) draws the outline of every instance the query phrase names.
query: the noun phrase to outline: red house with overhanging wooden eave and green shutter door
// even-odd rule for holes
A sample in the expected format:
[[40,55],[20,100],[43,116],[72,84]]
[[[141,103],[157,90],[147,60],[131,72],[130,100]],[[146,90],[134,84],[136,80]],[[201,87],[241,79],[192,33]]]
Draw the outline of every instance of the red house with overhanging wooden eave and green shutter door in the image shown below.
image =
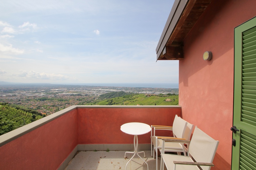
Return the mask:
[[182,118],[220,141],[212,169],[256,166],[255,6],[175,0],[156,48],[157,60],[179,60]]

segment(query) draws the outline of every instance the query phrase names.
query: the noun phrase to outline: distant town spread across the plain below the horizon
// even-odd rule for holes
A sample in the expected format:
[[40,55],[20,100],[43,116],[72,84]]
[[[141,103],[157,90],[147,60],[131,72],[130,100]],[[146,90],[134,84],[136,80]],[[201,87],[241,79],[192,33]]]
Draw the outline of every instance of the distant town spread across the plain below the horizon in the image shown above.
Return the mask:
[[179,93],[176,88],[109,87],[55,84],[0,84],[0,102],[35,109],[50,115],[72,105],[88,105],[101,94],[132,92],[150,95]]

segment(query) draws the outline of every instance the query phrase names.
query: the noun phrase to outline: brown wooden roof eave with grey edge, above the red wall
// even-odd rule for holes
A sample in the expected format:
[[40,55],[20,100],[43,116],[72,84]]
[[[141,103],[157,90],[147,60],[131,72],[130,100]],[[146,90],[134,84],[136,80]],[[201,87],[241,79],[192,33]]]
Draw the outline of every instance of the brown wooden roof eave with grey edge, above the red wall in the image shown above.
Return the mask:
[[156,47],[156,60],[184,58],[183,41],[212,0],[175,0]]

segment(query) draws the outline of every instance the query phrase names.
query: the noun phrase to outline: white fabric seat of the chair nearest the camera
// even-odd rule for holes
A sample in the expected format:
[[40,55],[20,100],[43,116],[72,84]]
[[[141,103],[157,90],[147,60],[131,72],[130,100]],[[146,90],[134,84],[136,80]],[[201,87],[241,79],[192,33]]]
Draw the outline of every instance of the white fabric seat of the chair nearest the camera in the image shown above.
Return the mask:
[[[175,161],[185,161],[185,162],[194,162],[190,157],[188,156],[182,156],[182,155],[172,155],[172,154],[161,154],[162,158],[164,160],[165,166],[167,167],[167,170],[173,170],[174,163],[172,160]],[[168,169],[171,167],[170,169]],[[197,166],[193,165],[176,165],[176,170],[198,170],[199,168]]]

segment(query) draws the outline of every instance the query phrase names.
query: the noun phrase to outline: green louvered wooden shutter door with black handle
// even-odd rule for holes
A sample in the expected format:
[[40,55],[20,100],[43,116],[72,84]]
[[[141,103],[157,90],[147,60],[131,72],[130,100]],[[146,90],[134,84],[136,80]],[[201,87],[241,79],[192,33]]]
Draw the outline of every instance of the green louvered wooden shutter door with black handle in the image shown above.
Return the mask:
[[256,169],[256,18],[235,28],[232,169]]

